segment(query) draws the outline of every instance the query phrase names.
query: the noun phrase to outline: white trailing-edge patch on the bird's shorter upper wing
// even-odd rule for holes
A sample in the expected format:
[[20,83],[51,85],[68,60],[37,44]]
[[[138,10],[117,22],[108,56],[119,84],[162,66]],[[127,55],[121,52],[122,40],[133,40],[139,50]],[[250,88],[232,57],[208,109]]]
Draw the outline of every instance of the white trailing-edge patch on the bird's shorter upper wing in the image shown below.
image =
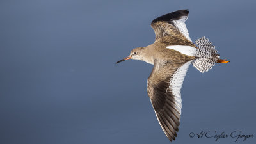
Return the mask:
[[188,19],[188,16],[182,16],[179,20],[172,20],[173,25],[179,29],[179,31],[186,37],[188,40],[192,42],[192,40],[189,37],[188,29],[186,27],[186,20]]

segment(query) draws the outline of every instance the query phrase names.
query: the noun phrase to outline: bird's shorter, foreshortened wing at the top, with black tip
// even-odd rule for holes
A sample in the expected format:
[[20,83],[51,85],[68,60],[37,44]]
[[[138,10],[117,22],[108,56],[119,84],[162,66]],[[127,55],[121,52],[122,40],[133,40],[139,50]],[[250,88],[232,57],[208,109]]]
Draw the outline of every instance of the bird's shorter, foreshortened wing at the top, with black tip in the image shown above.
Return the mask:
[[178,10],[154,19],[151,22],[151,26],[155,31],[156,40],[166,35],[172,35],[185,36],[191,41],[185,24],[188,14],[189,10]]

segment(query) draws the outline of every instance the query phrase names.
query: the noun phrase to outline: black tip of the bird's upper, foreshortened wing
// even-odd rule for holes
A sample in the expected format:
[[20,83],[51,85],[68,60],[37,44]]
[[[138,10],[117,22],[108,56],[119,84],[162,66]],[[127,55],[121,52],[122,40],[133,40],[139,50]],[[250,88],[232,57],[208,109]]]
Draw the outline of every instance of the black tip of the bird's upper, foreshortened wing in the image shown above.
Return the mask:
[[189,14],[189,10],[185,9],[185,10],[177,10],[175,12],[171,12],[171,13],[167,13],[165,15],[162,15],[160,17],[157,17],[156,19],[154,19],[152,21],[152,23],[154,22],[158,22],[158,21],[170,21],[172,20],[179,20],[182,16],[188,16]]

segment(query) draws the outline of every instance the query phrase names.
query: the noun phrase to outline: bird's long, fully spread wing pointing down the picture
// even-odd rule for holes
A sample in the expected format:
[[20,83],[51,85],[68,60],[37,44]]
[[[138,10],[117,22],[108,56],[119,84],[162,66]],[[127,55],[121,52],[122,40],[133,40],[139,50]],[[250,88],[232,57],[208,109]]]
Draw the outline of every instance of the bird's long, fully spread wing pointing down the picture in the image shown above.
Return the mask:
[[154,60],[148,78],[148,95],[157,120],[170,141],[175,140],[180,125],[180,89],[191,61]]

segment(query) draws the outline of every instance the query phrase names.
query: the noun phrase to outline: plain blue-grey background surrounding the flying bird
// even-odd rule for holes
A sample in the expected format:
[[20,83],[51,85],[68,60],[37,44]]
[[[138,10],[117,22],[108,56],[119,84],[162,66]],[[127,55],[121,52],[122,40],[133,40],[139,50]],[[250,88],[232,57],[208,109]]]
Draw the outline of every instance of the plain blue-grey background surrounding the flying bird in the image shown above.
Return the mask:
[[[234,143],[190,132],[255,131],[256,1],[0,2],[0,143],[170,143],[147,96],[152,65],[129,60],[154,42],[150,22],[188,8],[192,40],[231,61],[189,68],[173,143]],[[237,143],[255,143],[256,137]]]

